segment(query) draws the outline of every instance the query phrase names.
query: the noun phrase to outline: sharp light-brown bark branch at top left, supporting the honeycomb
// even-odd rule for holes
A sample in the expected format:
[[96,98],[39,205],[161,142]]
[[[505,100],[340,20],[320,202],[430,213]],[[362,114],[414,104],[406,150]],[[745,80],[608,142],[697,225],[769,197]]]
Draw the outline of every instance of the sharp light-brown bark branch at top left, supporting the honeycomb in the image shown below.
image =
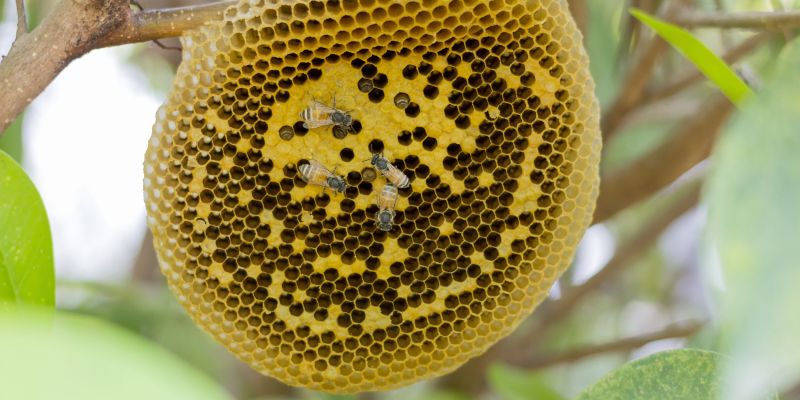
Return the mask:
[[0,135],[72,60],[103,47],[180,36],[234,3],[134,11],[127,0],[62,0],[0,62]]

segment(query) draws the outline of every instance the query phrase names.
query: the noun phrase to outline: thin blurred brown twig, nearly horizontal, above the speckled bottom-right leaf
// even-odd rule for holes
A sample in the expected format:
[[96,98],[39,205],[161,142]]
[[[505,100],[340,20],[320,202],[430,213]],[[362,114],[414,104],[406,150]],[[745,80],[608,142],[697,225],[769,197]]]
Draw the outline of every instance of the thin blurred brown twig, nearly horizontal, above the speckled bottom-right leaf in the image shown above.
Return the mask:
[[587,346],[561,354],[542,354],[521,362],[512,362],[511,364],[526,369],[541,369],[553,365],[574,362],[596,354],[608,353],[611,351],[631,351],[657,340],[692,336],[698,330],[700,330],[702,326],[703,324],[700,322],[675,324],[667,327],[661,332],[620,339],[610,343]]

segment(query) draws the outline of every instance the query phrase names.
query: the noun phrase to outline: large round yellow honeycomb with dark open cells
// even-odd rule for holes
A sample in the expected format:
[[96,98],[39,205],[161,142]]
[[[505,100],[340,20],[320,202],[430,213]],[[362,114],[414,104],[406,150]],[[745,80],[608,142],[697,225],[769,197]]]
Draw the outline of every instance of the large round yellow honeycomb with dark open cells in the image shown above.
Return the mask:
[[[569,265],[601,144],[565,1],[243,1],[182,41],[147,220],[181,304],[252,368],[330,393],[430,379]],[[334,95],[352,129],[305,129]],[[301,179],[312,153],[343,194]],[[389,231],[373,154],[411,182]]]

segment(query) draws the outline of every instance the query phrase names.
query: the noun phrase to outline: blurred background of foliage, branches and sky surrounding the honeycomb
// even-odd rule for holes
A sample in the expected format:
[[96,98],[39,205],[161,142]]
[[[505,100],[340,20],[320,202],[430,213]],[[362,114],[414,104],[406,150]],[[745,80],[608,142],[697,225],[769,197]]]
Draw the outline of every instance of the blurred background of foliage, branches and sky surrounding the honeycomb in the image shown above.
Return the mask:
[[[31,29],[57,0],[31,0]],[[145,8],[201,0],[142,0]],[[570,398],[614,368],[658,351],[714,350],[701,273],[706,212],[699,182],[733,107],[681,55],[628,14],[797,9],[794,0],[569,0],[603,110],[596,224],[550,298],[509,338],[458,371],[364,399],[515,399],[487,376]],[[800,3],[800,2],[798,2]],[[0,0],[0,54],[16,29]],[[693,33],[755,88],[798,32]],[[164,41],[179,45],[177,39]],[[263,377],[196,328],[156,265],[142,204],[142,157],[180,52],[151,43],[102,49],[70,64],[0,139],[44,199],[53,232],[57,307],[109,320],[200,368],[236,399],[327,399]],[[546,397],[550,396],[550,397]],[[781,396],[800,399],[800,385]]]

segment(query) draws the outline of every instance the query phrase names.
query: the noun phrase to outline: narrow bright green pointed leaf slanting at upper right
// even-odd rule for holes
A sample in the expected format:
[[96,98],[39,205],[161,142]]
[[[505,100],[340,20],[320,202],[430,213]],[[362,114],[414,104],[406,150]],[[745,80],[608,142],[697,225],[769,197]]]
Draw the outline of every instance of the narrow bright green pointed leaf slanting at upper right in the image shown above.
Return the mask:
[[688,32],[675,25],[659,21],[641,10],[631,9],[630,13],[683,53],[708,79],[719,86],[734,104],[740,105],[742,100],[752,94],[747,84],[739,79],[739,76],[724,61]]

